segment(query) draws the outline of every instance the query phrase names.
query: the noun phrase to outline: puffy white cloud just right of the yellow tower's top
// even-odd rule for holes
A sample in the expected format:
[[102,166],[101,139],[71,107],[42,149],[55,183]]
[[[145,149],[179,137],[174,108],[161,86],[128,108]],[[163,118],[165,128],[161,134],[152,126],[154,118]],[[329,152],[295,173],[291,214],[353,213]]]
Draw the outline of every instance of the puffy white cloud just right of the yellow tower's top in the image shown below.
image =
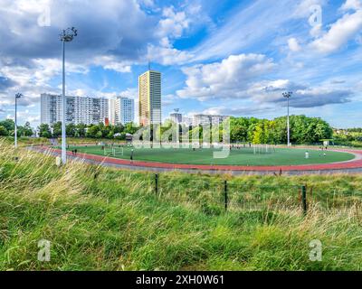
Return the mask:
[[261,54],[231,55],[221,62],[195,65],[183,69],[186,88],[178,90],[180,98],[243,98],[248,82],[274,67]]

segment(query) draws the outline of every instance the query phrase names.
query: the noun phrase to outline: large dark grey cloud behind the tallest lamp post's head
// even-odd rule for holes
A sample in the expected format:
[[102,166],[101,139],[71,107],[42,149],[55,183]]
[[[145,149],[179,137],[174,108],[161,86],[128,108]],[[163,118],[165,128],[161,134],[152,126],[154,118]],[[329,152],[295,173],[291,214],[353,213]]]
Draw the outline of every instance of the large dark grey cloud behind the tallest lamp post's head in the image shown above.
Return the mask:
[[41,7],[37,11],[23,7],[19,13],[17,1],[3,1],[8,9],[0,12],[0,47],[4,55],[17,61],[59,57],[59,33],[69,26],[79,31],[68,45],[68,59],[77,62],[104,54],[135,61],[155,39],[156,19],[140,10],[134,0],[52,1],[49,27],[38,25]]

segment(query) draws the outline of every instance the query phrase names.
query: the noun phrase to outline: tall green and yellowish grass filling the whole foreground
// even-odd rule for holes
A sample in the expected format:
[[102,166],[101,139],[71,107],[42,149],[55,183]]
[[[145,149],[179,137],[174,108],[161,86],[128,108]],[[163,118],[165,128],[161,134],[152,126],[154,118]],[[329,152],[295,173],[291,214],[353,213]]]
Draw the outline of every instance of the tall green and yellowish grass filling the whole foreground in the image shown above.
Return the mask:
[[[157,195],[148,172],[58,168],[50,154],[0,145],[1,270],[361,269],[359,199],[324,206],[326,194],[362,191],[360,175],[227,176],[224,212],[222,176],[164,173]],[[304,183],[323,196],[305,217]],[[37,260],[41,239],[50,262]],[[313,239],[321,262],[310,261]]]

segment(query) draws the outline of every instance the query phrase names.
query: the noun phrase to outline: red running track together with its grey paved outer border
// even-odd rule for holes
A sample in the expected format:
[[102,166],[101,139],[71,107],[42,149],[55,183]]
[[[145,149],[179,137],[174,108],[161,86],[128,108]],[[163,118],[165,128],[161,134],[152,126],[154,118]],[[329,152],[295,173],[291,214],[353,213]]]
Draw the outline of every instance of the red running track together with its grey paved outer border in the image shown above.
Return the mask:
[[[61,150],[52,149],[48,146],[34,146],[37,151],[48,151],[53,155],[61,154]],[[231,174],[268,174],[272,172],[283,172],[287,174],[302,173],[338,173],[338,172],[362,172],[362,151],[351,149],[333,150],[355,154],[355,159],[342,163],[321,163],[302,165],[278,165],[278,166],[246,166],[246,165],[205,165],[205,164],[182,164],[182,163],[154,163],[122,160],[108,156],[79,153],[76,156],[67,152],[70,158],[87,163],[102,163],[130,170],[146,170],[153,172],[182,171],[182,172],[204,172],[204,173],[231,173]]]

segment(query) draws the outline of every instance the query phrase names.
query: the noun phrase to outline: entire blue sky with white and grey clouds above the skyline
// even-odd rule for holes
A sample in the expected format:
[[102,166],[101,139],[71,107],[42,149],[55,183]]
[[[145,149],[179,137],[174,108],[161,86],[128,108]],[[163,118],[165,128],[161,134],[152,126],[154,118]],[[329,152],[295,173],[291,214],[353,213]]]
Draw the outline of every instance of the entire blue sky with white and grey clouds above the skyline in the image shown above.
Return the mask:
[[0,0],[0,118],[39,125],[40,94],[137,99],[163,74],[163,117],[213,113],[323,117],[362,126],[362,0]]

